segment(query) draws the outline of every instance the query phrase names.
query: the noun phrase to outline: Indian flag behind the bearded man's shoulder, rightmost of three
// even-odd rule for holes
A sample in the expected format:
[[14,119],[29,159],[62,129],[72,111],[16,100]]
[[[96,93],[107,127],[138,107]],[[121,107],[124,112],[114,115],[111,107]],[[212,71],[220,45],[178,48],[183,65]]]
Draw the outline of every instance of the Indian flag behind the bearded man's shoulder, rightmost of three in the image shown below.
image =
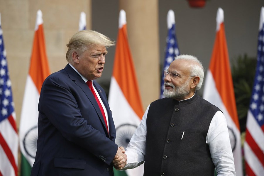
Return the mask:
[[217,11],[216,23],[216,39],[205,79],[203,98],[219,107],[224,113],[236,175],[242,176],[240,127],[224,30],[224,11],[221,8]]

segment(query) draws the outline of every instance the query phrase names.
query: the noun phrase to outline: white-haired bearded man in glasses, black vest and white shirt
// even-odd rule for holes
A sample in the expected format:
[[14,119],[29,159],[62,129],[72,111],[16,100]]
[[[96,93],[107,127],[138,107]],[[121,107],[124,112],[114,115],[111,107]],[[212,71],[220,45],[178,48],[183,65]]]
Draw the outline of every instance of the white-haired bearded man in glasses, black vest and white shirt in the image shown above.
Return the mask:
[[179,55],[164,71],[166,98],[152,102],[126,148],[132,169],[145,161],[145,176],[236,175],[224,114],[199,97],[204,68]]

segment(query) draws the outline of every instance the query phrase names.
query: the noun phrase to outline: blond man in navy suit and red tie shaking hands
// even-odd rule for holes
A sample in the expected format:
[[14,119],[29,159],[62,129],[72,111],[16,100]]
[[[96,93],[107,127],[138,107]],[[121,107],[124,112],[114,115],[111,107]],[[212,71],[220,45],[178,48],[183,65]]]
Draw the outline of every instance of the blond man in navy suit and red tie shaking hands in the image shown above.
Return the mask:
[[45,79],[32,176],[112,176],[114,158],[125,165],[106,94],[94,81],[102,75],[106,48],[113,45],[101,33],[79,31],[67,44],[69,64]]

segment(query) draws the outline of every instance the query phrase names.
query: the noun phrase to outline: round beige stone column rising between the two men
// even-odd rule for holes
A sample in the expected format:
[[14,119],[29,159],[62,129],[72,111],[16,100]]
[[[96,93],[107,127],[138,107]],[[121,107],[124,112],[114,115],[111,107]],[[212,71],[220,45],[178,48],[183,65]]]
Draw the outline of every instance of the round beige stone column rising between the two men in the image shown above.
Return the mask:
[[119,0],[119,9],[126,11],[128,42],[145,111],[160,94],[158,0]]

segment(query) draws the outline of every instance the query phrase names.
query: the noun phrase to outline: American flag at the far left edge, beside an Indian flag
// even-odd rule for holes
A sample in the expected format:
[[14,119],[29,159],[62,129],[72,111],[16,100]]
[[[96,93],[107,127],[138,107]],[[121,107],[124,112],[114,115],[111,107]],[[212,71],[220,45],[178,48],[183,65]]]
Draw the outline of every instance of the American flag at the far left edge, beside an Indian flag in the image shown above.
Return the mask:
[[18,134],[0,16],[0,175],[18,175]]

